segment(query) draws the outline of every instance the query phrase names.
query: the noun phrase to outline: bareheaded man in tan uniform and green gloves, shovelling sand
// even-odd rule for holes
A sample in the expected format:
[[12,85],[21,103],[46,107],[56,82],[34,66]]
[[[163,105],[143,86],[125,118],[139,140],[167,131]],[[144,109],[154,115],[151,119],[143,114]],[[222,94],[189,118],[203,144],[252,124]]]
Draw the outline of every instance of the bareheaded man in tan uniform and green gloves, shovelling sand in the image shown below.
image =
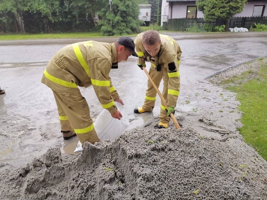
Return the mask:
[[[157,31],[146,31],[138,34],[134,40],[135,50],[138,54],[138,66],[142,69],[145,62],[150,62],[149,74],[155,85],[159,87],[163,79],[163,92],[169,110],[166,110],[161,101],[160,123],[158,128],[168,128],[170,114],[174,108],[180,91],[179,64],[181,60],[181,48],[170,36],[160,35]],[[152,112],[157,92],[148,79],[148,88],[145,94],[144,105],[134,109],[134,113]]]

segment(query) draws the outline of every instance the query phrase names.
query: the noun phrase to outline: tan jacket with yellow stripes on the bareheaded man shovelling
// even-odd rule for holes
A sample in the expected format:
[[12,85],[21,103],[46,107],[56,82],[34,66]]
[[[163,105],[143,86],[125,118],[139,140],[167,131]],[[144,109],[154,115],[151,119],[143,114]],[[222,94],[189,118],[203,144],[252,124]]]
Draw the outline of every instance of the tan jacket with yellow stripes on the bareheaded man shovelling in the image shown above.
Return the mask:
[[149,55],[142,44],[144,33],[137,35],[134,40],[136,53],[139,58],[137,64],[145,66],[145,61],[150,62],[152,66],[161,71],[166,69],[168,80],[168,106],[175,107],[180,93],[180,72],[179,65],[181,60],[181,48],[179,44],[168,35],[160,34],[160,50],[155,57]]

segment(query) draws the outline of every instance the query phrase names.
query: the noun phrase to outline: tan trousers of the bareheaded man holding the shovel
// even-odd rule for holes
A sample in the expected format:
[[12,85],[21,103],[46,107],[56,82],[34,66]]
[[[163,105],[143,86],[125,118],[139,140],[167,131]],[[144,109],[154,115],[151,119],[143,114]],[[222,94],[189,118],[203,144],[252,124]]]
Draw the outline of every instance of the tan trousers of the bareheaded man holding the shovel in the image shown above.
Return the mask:
[[[150,69],[149,69],[149,75],[151,76],[152,80],[154,81],[155,85],[159,88],[160,86],[160,81],[163,79],[163,91],[162,91],[162,96],[166,103],[168,103],[167,97],[168,97],[168,81],[169,77],[167,74],[167,69],[161,69],[159,72],[156,70],[155,67],[151,64]],[[154,89],[154,86],[152,82],[148,79],[147,82],[147,90],[145,92],[145,100],[144,100],[144,105],[142,108],[146,111],[152,112],[155,102],[156,102],[156,96],[157,96],[157,91]],[[170,121],[170,117],[167,116],[165,106],[163,101],[161,100],[161,105],[160,105],[160,122],[162,123],[168,123]]]

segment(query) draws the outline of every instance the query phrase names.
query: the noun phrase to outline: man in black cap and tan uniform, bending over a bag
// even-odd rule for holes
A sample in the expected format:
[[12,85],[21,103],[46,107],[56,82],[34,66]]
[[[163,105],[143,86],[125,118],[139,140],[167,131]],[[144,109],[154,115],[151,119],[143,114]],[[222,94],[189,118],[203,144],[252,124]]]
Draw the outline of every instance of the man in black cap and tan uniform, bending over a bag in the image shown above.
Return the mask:
[[92,144],[100,141],[89,106],[77,86],[93,85],[102,107],[112,117],[121,119],[122,114],[114,101],[122,105],[123,101],[111,83],[109,72],[130,55],[138,57],[134,47],[134,41],[129,37],[121,37],[113,44],[79,42],[63,47],[50,60],[41,82],[53,91],[65,140],[77,135],[82,146],[86,141]]

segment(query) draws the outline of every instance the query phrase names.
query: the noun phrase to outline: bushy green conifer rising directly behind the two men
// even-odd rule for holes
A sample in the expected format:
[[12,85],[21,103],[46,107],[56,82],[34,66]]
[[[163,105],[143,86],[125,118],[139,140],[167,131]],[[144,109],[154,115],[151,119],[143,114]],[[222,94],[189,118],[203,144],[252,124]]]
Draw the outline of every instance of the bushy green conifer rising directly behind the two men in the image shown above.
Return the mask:
[[100,17],[98,25],[105,36],[128,35],[140,32],[139,7],[133,0],[112,0],[97,12]]

